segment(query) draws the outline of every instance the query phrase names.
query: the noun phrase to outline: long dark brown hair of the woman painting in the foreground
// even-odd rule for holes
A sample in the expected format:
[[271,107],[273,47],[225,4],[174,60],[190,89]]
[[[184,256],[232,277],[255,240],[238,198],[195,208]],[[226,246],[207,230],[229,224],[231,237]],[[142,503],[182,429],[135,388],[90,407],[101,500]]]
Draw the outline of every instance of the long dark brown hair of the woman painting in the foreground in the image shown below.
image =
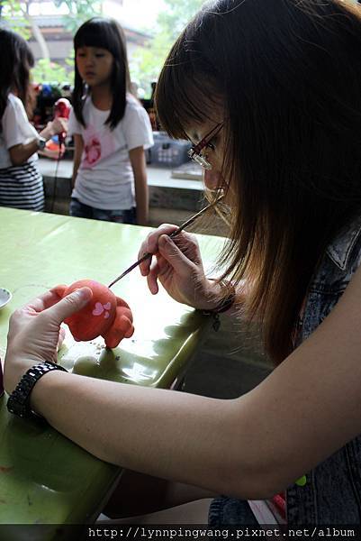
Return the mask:
[[[361,210],[361,20],[337,0],[218,0],[176,41],[156,93],[176,138],[224,107],[223,277],[281,362],[327,245]],[[214,120],[216,122],[216,120]]]

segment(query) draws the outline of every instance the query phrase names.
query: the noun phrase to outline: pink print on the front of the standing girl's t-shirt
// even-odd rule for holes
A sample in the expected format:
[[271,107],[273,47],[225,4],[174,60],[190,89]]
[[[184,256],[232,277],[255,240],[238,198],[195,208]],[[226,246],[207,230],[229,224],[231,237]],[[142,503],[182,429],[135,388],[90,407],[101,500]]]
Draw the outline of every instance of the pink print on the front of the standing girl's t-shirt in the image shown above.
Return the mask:
[[84,153],[82,168],[92,169],[96,163],[110,156],[115,150],[112,133],[106,130],[95,130],[92,124],[86,127],[83,135]]

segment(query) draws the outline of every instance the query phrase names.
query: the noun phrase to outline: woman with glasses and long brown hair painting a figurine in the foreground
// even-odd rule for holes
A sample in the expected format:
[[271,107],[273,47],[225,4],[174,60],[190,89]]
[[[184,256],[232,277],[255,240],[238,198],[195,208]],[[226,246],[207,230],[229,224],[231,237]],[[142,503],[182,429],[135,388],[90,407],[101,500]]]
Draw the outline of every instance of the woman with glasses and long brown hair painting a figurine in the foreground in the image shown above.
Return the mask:
[[[212,525],[254,521],[246,500],[268,500],[289,525],[361,521],[360,50],[360,16],[337,0],[216,0],[158,82],[160,122],[194,142],[205,186],[229,207],[230,242],[210,280],[194,237],[170,239],[176,226],[163,225],[140,247],[155,255],[140,271],[151,293],[160,282],[194,308],[216,313],[234,298],[263,327],[270,376],[231,400],[57,370],[32,391],[32,408],[96,456],[225,495]],[[8,391],[89,298],[50,293],[31,322],[17,313]],[[40,335],[48,357],[23,333]],[[283,518],[274,504],[285,491]]]

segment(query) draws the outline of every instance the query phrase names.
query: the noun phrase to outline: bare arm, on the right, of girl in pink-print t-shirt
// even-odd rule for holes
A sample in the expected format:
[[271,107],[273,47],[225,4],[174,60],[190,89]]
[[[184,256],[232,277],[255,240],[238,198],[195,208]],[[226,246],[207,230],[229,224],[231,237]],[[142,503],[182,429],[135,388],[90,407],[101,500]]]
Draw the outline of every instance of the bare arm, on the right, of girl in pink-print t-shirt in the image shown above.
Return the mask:
[[147,166],[142,146],[129,152],[134,174],[135,200],[137,204],[137,224],[148,225],[149,193],[147,184]]

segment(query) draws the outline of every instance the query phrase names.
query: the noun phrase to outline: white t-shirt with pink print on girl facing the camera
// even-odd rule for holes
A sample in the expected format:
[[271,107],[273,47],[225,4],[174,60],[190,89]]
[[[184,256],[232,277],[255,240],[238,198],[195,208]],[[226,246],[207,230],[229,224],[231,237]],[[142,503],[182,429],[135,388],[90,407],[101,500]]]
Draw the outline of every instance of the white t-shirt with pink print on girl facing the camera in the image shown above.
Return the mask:
[[83,108],[86,128],[77,122],[74,111],[70,113],[68,133],[80,134],[84,141],[72,197],[95,208],[126,210],[135,206],[129,151],[140,146],[149,149],[153,133],[147,112],[131,95],[121,122],[113,130],[104,124],[109,113],[96,109],[90,96]]

